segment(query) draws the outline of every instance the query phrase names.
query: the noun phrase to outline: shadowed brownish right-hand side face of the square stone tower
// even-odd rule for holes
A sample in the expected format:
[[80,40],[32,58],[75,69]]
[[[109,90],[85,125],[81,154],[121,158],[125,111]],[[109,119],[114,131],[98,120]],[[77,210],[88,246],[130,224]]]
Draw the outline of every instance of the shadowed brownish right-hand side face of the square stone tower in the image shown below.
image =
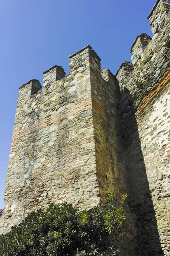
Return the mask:
[[91,76],[91,84],[97,176],[103,201],[109,191],[114,189],[119,197],[127,189],[118,108],[121,97],[119,83],[109,70],[101,71],[103,79],[96,72]]

